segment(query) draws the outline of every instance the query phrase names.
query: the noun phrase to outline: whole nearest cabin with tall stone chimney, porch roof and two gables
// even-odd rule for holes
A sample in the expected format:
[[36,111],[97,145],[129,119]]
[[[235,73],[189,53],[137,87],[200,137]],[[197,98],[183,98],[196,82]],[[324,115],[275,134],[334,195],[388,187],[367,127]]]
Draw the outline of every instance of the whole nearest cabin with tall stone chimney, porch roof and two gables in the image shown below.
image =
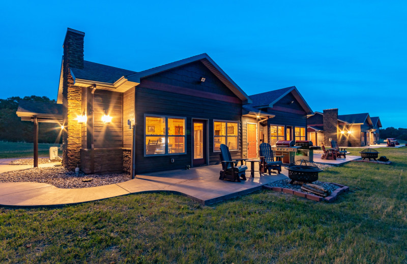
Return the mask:
[[84,36],[67,29],[58,111],[17,111],[37,134],[38,122],[60,124],[68,170],[134,176],[217,164],[221,144],[255,158],[262,142],[307,139],[313,112],[295,86],[248,96],[206,53],[138,72],[111,67],[84,60]]

